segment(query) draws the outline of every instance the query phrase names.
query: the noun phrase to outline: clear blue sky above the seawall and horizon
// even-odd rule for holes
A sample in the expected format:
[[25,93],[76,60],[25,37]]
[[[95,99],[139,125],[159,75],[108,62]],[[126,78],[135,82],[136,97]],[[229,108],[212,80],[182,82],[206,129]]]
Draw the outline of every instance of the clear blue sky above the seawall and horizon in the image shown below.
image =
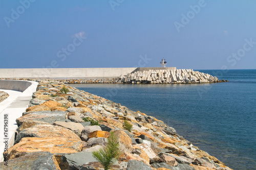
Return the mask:
[[256,69],[255,0],[0,2],[0,68]]

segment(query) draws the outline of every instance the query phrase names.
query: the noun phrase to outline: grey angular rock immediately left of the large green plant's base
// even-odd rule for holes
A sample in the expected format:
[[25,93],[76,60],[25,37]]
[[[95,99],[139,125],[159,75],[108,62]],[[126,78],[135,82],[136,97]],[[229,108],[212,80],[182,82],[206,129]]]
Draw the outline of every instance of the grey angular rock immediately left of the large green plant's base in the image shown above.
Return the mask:
[[79,152],[69,155],[63,155],[63,162],[68,162],[69,169],[80,169],[83,164],[89,162],[98,162],[92,155],[92,152]]

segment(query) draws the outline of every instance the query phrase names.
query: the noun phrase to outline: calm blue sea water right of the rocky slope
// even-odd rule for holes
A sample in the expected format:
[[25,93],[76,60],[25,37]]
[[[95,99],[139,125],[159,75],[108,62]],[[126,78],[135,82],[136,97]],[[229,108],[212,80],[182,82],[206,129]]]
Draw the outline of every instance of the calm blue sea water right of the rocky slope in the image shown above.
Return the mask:
[[212,84],[74,84],[163,120],[233,169],[256,169],[256,69],[199,70]]

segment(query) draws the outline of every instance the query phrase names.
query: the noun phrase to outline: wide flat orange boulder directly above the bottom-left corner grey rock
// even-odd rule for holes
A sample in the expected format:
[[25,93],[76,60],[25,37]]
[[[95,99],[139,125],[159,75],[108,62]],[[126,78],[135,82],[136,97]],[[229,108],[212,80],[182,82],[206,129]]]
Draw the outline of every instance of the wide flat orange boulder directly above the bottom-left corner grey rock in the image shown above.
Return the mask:
[[[73,132],[72,132],[73,133]],[[77,135],[76,135],[77,136]],[[66,137],[24,137],[8,149],[9,160],[32,152],[76,153],[83,147],[81,139]]]

